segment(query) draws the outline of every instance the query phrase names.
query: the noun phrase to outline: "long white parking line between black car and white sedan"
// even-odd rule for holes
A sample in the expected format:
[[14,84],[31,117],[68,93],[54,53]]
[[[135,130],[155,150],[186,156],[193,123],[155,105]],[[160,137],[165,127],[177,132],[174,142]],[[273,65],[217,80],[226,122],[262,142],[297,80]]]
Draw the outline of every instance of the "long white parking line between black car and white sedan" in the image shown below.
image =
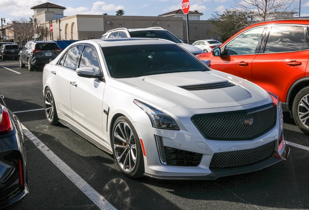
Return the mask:
[[37,139],[24,125],[24,134],[35,144],[35,146],[48,157],[86,196],[101,210],[116,210],[96,190],[94,190],[81,176],[76,174],[65,162],[56,156],[42,141]]

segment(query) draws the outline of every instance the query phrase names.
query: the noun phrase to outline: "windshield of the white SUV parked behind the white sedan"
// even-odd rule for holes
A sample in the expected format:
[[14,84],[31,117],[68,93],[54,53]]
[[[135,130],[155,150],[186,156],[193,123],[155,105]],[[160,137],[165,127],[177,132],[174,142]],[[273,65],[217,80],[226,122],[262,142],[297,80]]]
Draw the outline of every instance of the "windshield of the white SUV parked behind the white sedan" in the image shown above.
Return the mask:
[[134,38],[161,38],[166,39],[175,43],[182,43],[178,38],[172,35],[168,31],[161,30],[145,30],[145,31],[136,31],[129,32],[131,37]]

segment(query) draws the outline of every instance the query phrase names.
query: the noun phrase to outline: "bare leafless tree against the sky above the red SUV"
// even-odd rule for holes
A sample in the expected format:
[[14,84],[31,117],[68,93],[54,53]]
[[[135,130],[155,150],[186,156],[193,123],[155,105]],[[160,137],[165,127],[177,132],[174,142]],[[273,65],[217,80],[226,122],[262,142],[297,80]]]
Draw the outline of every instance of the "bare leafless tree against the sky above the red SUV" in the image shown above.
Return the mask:
[[296,13],[295,0],[236,0],[232,9],[245,13],[257,22],[275,18],[292,18]]

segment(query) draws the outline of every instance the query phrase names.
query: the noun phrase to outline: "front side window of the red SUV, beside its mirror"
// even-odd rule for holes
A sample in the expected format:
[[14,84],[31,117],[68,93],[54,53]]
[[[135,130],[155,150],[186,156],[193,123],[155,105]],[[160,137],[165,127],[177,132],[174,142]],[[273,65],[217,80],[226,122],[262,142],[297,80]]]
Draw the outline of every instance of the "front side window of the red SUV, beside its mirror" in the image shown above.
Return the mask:
[[254,54],[257,50],[258,41],[263,33],[264,27],[246,31],[225,45],[224,55]]

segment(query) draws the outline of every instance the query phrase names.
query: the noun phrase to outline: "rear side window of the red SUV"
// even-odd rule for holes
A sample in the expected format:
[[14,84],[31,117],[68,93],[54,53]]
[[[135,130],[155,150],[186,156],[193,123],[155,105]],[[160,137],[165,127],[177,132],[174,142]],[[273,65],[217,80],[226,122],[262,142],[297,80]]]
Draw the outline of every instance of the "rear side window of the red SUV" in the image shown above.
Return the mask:
[[[307,27],[305,28],[307,30]],[[308,50],[303,26],[273,26],[264,53],[283,53]]]

